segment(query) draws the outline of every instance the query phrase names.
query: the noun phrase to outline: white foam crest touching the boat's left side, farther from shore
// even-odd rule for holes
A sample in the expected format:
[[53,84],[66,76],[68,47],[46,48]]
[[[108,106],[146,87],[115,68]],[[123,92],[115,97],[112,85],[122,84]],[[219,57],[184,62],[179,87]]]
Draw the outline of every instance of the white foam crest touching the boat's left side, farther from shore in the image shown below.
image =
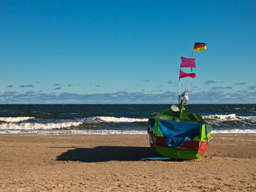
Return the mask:
[[132,122],[147,122],[148,118],[116,118],[116,117],[107,117],[107,116],[97,116],[90,118],[91,120],[99,120],[106,123],[132,123]]

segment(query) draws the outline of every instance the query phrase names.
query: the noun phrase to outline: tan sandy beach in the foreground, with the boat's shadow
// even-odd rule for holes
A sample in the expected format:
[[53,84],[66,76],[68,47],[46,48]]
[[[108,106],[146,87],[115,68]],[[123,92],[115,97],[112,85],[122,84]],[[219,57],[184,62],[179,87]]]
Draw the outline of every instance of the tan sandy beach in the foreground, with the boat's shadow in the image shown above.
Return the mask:
[[0,191],[256,191],[256,135],[215,134],[204,158],[157,156],[146,135],[0,135]]

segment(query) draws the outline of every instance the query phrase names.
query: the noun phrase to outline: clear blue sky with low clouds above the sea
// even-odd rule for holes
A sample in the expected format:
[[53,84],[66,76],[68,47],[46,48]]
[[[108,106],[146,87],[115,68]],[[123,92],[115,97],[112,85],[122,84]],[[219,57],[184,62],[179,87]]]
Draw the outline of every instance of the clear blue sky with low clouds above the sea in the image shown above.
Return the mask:
[[[0,2],[0,103],[256,103],[256,1]],[[184,81],[181,80],[181,88]]]

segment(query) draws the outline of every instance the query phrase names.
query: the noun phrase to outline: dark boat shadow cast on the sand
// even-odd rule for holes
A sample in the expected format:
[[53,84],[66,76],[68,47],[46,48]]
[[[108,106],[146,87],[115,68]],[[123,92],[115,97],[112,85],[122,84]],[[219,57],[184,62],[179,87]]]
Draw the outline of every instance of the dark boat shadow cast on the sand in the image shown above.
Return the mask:
[[150,147],[98,146],[94,148],[75,147],[56,157],[57,161],[105,162],[140,161],[159,155]]

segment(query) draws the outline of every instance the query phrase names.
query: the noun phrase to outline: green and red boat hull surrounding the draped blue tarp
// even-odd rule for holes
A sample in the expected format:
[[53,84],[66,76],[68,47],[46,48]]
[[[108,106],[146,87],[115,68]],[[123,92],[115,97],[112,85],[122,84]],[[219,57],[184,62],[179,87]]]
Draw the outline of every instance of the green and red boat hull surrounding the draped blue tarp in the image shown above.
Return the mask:
[[[180,147],[169,147],[161,131],[159,130],[159,120],[170,120],[181,123],[199,123],[199,134],[189,139]],[[153,122],[153,123],[152,123]],[[160,155],[177,159],[195,159],[200,158],[206,151],[208,141],[211,137],[211,125],[203,120],[202,116],[195,113],[173,112],[172,110],[163,110],[158,115],[150,118],[148,123],[148,134],[151,147]]]

